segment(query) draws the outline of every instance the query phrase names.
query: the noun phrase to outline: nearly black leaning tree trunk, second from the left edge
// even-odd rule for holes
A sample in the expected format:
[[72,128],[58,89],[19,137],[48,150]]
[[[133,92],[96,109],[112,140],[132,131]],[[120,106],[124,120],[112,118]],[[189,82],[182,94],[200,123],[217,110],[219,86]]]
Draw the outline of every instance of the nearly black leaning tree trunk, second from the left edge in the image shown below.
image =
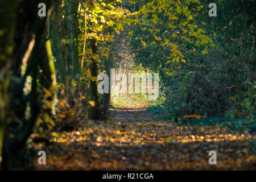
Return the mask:
[[[23,3],[23,2],[21,2]],[[49,7],[51,6],[51,0],[45,0],[43,3],[46,3],[47,11]],[[35,7],[34,13],[37,12],[37,2],[34,2],[32,4]],[[13,4],[11,4],[13,6]],[[24,16],[20,18],[26,18],[27,14],[24,14]],[[2,17],[2,16],[1,16]],[[24,126],[22,130],[18,130],[17,134],[13,138],[5,138],[5,146],[3,150],[3,163],[2,167],[4,169],[13,169],[14,164],[15,167],[23,166],[26,168],[24,164],[27,164],[26,159],[19,154],[24,151],[24,146],[26,144],[26,140],[28,137],[30,137],[30,134],[32,133],[32,129],[35,125],[36,118],[39,114],[39,103],[38,103],[38,65],[41,61],[44,61],[45,55],[42,53],[43,47],[45,47],[45,40],[44,40],[44,25],[46,23],[46,18],[40,18],[39,16],[35,16],[35,18],[30,19],[31,23],[33,24],[31,28],[31,34],[35,34],[35,44],[32,49],[32,53],[30,56],[30,59],[28,60],[28,67],[26,70],[25,77],[27,75],[31,75],[32,77],[32,85],[31,85],[31,92],[29,94],[29,102],[30,102],[30,118],[28,121],[23,121]],[[10,22],[10,20],[9,20]],[[16,32],[16,34],[20,34],[20,32]],[[19,152],[17,152],[19,151]],[[19,160],[17,160],[19,159]]]

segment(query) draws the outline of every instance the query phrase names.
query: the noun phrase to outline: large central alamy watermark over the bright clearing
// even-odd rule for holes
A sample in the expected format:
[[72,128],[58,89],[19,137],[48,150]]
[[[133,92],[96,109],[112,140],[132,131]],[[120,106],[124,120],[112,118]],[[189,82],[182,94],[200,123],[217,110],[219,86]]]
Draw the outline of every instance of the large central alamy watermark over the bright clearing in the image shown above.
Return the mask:
[[115,69],[110,69],[110,79],[108,74],[101,73],[98,81],[100,94],[144,93],[149,100],[156,100],[159,96],[158,73],[117,73]]

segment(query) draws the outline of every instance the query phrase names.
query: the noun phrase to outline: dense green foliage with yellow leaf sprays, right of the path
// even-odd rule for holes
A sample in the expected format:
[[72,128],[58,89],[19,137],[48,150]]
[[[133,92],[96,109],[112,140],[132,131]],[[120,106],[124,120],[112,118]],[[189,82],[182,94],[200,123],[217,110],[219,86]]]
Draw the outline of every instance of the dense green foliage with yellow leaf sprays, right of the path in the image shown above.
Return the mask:
[[143,14],[141,23],[129,30],[135,32],[135,62],[160,73],[164,106],[171,115],[224,117],[234,105],[230,97],[245,93],[255,80],[255,3],[219,1],[218,15],[211,18],[210,1],[186,1],[177,9],[171,6],[179,1],[169,1],[158,10],[161,2],[151,2],[156,10],[144,5],[143,11],[154,13]]

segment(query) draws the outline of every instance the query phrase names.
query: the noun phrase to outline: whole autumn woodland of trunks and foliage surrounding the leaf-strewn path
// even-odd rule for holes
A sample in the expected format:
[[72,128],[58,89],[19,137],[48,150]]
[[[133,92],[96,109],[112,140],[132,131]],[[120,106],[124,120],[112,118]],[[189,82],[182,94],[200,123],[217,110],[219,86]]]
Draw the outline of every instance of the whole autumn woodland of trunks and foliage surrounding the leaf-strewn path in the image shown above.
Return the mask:
[[[1,1],[1,168],[34,169],[31,156],[51,146],[53,135],[88,131],[88,122],[103,129],[111,125],[113,105],[125,105],[130,98],[98,93],[97,76],[110,75],[112,68],[159,73],[159,97],[148,102],[149,118],[176,123],[180,131],[189,122],[224,125],[254,138],[256,1],[215,1],[217,16],[210,17],[212,2]],[[40,3],[46,5],[46,16],[38,15]],[[114,123],[122,127],[119,122]],[[122,132],[113,127],[115,134]],[[101,143],[99,136],[94,138]],[[171,143],[166,137],[163,141]],[[255,139],[250,142],[256,146]],[[251,151],[255,167],[255,148]],[[107,164],[103,169],[120,168]],[[85,169],[102,169],[92,165]],[[163,169],[147,167],[131,169]]]

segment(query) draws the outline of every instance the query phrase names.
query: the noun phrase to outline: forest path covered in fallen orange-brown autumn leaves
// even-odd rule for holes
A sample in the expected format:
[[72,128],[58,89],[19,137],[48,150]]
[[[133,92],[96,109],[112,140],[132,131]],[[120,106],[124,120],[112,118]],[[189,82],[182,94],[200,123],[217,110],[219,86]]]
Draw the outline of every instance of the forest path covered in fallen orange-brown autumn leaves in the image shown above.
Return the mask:
[[[106,122],[52,133],[47,165],[55,170],[256,169],[256,135],[229,127],[164,121],[147,113],[146,102],[110,109]],[[209,151],[217,151],[210,165]]]

